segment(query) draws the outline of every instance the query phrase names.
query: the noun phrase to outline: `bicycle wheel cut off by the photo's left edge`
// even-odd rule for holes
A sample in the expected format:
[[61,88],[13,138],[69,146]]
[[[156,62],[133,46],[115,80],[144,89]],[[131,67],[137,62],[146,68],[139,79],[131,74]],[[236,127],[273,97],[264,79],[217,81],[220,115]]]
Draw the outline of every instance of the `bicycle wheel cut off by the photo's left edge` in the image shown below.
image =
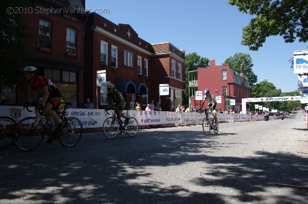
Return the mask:
[[14,145],[13,133],[16,121],[10,117],[0,117],[0,149],[7,149]]

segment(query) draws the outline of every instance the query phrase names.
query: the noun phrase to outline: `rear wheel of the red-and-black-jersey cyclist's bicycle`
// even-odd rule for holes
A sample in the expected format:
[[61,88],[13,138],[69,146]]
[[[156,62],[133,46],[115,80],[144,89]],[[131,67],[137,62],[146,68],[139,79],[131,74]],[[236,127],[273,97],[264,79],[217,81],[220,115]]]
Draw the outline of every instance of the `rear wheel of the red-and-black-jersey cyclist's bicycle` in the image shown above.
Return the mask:
[[72,147],[76,145],[82,137],[82,124],[76,117],[67,118],[62,130],[59,131],[59,141],[65,147]]

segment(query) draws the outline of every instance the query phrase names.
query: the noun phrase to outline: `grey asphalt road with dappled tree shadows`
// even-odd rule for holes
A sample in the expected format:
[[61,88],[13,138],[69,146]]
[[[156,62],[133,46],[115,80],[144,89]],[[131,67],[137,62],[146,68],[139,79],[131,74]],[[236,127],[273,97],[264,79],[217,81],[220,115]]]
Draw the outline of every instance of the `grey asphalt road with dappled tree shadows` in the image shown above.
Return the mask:
[[[1,150],[0,203],[307,203],[308,130],[284,120],[140,130]],[[300,153],[301,152],[301,153]]]

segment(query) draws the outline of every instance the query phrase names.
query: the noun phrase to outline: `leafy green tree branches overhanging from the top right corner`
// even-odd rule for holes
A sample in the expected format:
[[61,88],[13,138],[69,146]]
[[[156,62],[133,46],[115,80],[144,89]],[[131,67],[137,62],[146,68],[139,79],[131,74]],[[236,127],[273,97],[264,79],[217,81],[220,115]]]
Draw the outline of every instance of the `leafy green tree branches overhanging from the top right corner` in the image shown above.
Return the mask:
[[243,28],[242,45],[257,51],[266,37],[280,35],[285,43],[308,41],[307,0],[229,0],[243,13],[255,17]]

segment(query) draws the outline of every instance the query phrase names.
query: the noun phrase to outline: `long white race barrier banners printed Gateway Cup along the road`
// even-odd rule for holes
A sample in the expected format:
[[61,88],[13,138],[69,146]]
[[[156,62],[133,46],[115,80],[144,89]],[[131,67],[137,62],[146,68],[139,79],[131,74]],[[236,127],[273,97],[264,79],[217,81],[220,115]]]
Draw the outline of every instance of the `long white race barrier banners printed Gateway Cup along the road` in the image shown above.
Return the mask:
[[[33,107],[29,108],[34,110]],[[83,128],[101,128],[107,117],[111,116],[111,111],[108,115],[104,109],[67,109],[66,115],[68,117],[79,118],[82,122]],[[126,113],[126,110],[123,111]],[[140,126],[146,125],[164,125],[164,124],[178,124],[178,123],[202,123],[205,113],[196,112],[169,112],[169,111],[135,111],[130,110],[129,115],[138,120]],[[20,121],[29,116],[35,116],[34,113],[23,110],[22,106],[0,106],[0,116],[8,116]],[[213,117],[209,115],[209,117]],[[218,120],[220,122],[227,121],[249,121],[249,120],[264,120],[263,115],[248,115],[248,114],[225,114],[218,113]],[[280,116],[269,116],[269,119],[280,119]]]

